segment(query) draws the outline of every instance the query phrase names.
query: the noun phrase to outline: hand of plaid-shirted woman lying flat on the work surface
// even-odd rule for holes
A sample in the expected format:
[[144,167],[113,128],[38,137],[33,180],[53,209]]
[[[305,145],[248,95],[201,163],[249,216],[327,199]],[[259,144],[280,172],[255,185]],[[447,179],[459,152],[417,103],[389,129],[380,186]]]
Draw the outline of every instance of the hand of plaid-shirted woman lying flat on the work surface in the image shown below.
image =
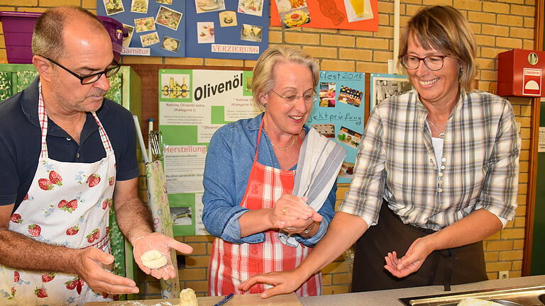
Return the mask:
[[238,286],[238,290],[248,291],[255,283],[268,283],[274,285],[275,287],[261,293],[261,298],[267,298],[275,295],[292,293],[297,290],[305,280],[307,279],[303,279],[302,273],[297,273],[297,270],[269,272],[248,278]]

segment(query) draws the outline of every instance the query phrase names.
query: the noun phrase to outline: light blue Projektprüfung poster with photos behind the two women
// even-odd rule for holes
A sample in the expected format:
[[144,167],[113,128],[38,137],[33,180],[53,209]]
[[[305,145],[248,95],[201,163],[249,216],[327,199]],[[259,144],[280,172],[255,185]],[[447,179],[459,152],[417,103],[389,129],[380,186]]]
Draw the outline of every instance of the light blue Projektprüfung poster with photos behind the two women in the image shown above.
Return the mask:
[[346,149],[338,183],[350,183],[365,115],[365,74],[321,71],[307,125]]

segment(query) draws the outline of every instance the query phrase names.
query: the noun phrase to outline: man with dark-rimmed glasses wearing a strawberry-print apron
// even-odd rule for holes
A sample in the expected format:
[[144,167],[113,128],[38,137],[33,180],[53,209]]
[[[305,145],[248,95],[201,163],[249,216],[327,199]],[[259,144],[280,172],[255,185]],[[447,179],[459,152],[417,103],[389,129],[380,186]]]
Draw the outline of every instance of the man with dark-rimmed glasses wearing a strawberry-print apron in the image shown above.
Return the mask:
[[[0,104],[0,304],[83,305],[138,293],[109,272],[109,210],[155,278],[175,277],[170,249],[138,198],[133,118],[104,98],[119,71],[100,21],[76,6],[38,18],[32,40],[39,77]],[[150,270],[141,254],[168,255]]]

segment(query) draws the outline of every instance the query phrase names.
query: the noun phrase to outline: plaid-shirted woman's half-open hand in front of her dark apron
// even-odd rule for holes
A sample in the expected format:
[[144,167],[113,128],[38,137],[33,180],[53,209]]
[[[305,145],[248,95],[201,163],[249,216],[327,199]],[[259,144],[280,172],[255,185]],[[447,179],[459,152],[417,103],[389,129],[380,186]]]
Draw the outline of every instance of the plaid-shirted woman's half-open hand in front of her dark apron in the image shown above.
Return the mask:
[[388,252],[385,256],[386,265],[384,268],[397,278],[403,278],[418,271],[429,254],[434,251],[428,243],[429,239],[429,236],[426,236],[414,240],[407,250],[407,254],[401,259],[397,258],[396,251]]

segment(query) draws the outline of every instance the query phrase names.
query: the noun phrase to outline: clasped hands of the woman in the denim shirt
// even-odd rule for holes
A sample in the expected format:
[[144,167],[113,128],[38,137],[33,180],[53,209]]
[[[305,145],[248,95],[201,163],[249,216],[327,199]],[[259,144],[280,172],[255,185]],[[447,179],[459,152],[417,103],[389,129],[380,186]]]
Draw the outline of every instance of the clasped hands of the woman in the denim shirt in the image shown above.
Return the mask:
[[[307,205],[306,197],[285,194],[271,210],[270,221],[279,229],[290,228],[289,232],[303,232],[312,222],[320,222],[321,215]],[[300,230],[299,230],[300,229]]]

